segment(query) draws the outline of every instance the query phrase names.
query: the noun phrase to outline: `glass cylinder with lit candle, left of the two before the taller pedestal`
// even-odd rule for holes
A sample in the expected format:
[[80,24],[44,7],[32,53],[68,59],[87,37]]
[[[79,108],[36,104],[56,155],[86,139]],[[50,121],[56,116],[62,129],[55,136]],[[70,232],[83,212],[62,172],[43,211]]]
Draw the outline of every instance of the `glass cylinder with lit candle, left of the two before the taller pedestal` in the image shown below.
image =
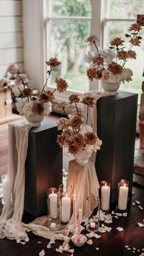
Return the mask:
[[108,181],[103,180],[100,182],[100,199],[101,210],[107,213],[110,205],[110,183]]

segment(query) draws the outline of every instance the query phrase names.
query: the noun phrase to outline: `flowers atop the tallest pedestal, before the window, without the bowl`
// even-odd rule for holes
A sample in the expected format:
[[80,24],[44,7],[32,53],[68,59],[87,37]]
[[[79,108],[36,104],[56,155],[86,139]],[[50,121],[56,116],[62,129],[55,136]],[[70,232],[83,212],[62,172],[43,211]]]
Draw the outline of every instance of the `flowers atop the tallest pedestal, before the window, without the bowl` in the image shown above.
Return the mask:
[[125,34],[130,43],[127,51],[123,46],[125,41],[120,37],[114,38],[108,49],[101,49],[96,46],[96,42],[98,42],[96,35],[90,35],[87,38],[88,45],[95,45],[96,51],[88,52],[88,63],[90,64],[90,68],[87,70],[88,79],[93,81],[95,78],[108,83],[131,81],[132,70],[124,66],[129,59],[136,59],[136,53],[132,48],[133,46],[140,46],[140,39],[142,39],[139,36],[140,29],[142,27],[139,23],[131,24],[129,27],[131,33]]

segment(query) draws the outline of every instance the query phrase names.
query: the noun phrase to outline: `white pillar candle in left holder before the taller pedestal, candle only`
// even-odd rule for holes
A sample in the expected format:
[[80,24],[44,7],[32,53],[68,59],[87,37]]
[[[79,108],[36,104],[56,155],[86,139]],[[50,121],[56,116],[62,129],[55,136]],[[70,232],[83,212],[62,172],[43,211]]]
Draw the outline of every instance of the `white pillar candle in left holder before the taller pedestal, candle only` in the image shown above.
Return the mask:
[[110,200],[110,187],[105,183],[104,186],[101,187],[101,210],[108,211],[109,210],[109,200]]

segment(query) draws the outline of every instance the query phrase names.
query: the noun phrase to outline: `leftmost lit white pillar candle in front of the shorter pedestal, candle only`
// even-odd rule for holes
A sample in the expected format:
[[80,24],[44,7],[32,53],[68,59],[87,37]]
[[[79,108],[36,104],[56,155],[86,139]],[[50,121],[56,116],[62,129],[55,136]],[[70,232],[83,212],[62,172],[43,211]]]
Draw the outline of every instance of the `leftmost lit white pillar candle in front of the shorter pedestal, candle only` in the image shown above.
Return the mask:
[[50,216],[52,219],[57,218],[57,194],[52,191],[51,194],[49,194],[49,206],[50,206]]

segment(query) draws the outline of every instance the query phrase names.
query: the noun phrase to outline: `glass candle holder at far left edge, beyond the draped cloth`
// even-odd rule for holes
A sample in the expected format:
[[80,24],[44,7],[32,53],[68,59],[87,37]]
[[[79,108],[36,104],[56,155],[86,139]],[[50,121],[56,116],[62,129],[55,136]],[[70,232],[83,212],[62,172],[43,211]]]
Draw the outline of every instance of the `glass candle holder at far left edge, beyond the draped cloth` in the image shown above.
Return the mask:
[[12,203],[12,193],[9,193],[9,177],[7,174],[1,175],[2,181],[2,204]]

